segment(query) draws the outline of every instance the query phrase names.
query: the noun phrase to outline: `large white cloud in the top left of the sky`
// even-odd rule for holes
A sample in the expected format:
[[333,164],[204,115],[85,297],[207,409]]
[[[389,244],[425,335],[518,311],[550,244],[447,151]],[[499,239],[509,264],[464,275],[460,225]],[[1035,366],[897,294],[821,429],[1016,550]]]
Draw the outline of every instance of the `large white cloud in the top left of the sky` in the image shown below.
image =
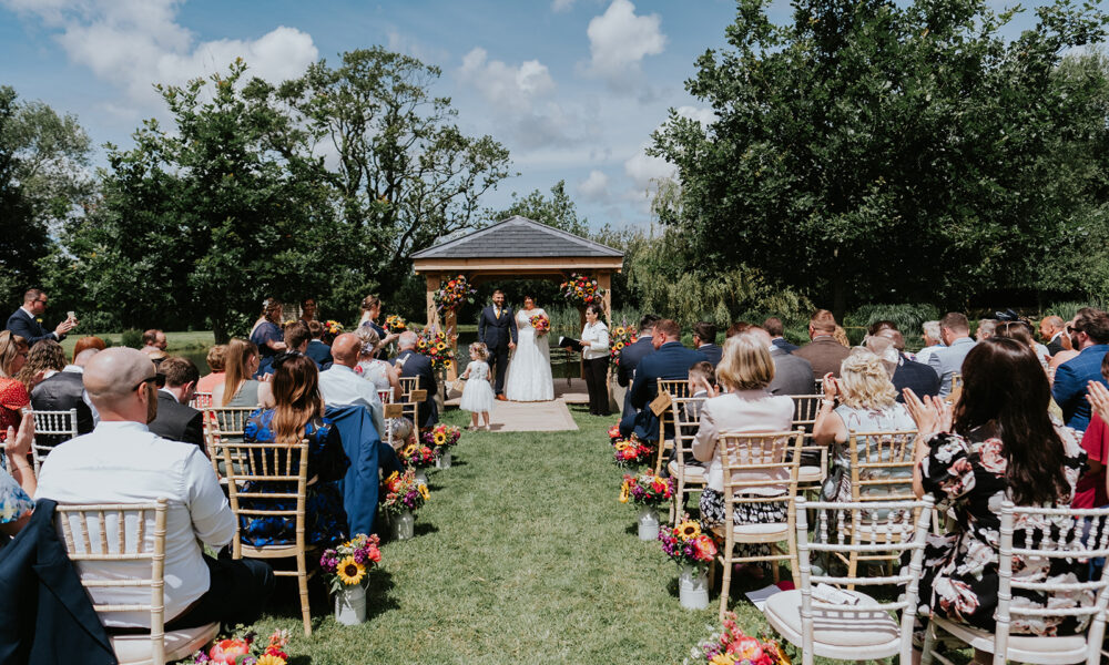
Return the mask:
[[295,78],[319,52],[312,37],[278,27],[255,40],[197,42],[176,22],[176,0],[0,0],[57,32],[69,59],[120,88],[132,103],[157,106],[155,83],[180,85],[243,58],[253,75]]

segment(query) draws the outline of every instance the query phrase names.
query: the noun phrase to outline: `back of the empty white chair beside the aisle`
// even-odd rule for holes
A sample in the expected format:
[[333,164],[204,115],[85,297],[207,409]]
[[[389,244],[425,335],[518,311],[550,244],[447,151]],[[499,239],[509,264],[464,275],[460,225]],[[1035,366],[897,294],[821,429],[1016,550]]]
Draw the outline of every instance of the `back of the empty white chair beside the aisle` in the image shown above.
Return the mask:
[[[901,634],[889,635],[891,640],[899,637],[899,654],[902,663],[910,663],[913,656],[913,622],[916,618],[917,594],[920,571],[924,564],[925,538],[928,535],[928,523],[932,519],[932,497],[913,501],[883,501],[879,503],[828,502],[796,500],[796,529],[798,546],[798,567],[801,570],[801,627],[802,648],[804,654],[814,653],[815,622],[834,622],[843,631],[849,631],[852,623],[874,623],[876,617],[888,616],[889,612],[901,612]],[[875,509],[881,509],[876,512]],[[808,540],[808,515],[813,511],[817,515],[816,539]],[[877,514],[884,516],[877,518]],[[869,542],[859,542],[857,538],[837,529],[836,524],[865,523],[873,533],[884,533]],[[912,538],[905,538],[905,524],[913,524]],[[830,525],[831,524],[831,525]],[[912,552],[909,565],[902,567],[896,574],[884,576],[862,576],[847,574],[814,574],[812,566],[813,553],[828,552],[840,556],[852,553],[881,559],[898,559],[905,552]],[[866,602],[858,604],[834,604],[813,597],[813,587],[817,584],[836,586],[885,586],[882,597],[893,597],[888,602]],[[888,593],[889,586],[901,587],[901,593]],[[852,591],[843,591],[852,595]]]

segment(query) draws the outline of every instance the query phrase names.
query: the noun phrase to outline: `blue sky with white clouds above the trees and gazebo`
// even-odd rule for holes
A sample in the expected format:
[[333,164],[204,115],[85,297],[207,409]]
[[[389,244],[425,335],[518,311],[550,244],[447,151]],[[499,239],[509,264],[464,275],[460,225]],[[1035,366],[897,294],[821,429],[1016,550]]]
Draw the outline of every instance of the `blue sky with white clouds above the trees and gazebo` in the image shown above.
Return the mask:
[[[779,0],[772,18],[787,11]],[[0,0],[0,84],[75,114],[98,146],[126,147],[143,119],[165,119],[155,82],[237,55],[287,79],[379,44],[439,65],[435,92],[464,131],[510,150],[520,175],[485,205],[566,180],[592,226],[645,225],[650,181],[669,167],[643,147],[670,108],[708,117],[684,81],[734,16],[731,0]]]

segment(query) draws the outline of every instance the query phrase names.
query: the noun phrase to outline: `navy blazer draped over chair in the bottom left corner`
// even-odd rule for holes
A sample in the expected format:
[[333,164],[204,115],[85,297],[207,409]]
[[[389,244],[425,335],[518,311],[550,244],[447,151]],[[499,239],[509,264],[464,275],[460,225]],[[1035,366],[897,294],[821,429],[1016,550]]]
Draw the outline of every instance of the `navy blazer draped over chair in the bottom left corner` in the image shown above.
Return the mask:
[[0,663],[115,665],[108,633],[54,531],[49,499],[0,549]]

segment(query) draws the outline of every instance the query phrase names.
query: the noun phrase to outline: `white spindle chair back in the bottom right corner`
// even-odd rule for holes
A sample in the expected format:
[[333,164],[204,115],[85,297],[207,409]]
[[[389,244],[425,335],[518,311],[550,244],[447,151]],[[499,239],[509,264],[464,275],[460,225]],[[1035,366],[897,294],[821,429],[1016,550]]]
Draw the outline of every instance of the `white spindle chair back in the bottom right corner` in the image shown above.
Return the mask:
[[[1098,663],[1105,637],[1106,607],[1109,604],[1109,575],[1072,583],[1032,582],[1027,571],[1014,575],[1014,560],[1050,565],[1062,560],[1071,564],[1109,556],[1109,508],[1024,508],[1001,502],[1001,538],[998,554],[997,628],[994,632],[994,663],[1007,658],[1009,633],[1014,625],[1039,622],[1046,617],[1074,616],[1086,623],[1086,662]],[[1032,605],[1014,603],[1014,591],[1046,598]],[[1086,596],[1085,606],[1076,596]],[[1041,606],[1042,605],[1042,606]],[[1081,618],[1086,617],[1087,622]],[[1024,632],[1024,631],[1022,631]],[[1058,662],[1071,662],[1058,661]]]

